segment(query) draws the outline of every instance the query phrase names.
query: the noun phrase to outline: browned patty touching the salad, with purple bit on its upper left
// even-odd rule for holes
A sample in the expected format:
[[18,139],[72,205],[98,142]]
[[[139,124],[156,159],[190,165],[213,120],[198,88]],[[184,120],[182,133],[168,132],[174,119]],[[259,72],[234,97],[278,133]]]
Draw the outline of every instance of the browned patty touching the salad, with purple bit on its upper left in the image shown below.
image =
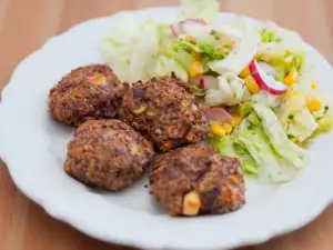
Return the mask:
[[133,83],[124,93],[119,118],[162,151],[195,143],[209,131],[205,113],[174,73]]

